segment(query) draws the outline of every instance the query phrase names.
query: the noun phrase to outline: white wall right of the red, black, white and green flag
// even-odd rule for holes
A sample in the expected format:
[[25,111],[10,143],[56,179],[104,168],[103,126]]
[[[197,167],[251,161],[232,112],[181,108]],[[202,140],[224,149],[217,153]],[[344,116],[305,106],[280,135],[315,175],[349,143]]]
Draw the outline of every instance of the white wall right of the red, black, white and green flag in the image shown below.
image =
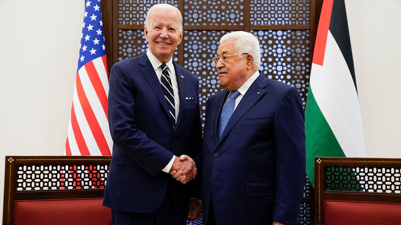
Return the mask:
[[401,158],[401,1],[345,6],[367,156]]

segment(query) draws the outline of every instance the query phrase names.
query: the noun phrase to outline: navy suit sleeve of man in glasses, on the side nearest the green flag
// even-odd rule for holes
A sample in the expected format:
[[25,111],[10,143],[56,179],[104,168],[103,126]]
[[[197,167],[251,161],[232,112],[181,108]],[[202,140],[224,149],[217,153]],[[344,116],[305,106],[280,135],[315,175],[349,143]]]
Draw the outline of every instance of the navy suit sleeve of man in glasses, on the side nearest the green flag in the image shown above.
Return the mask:
[[276,193],[273,220],[298,224],[300,200],[306,179],[305,124],[298,90],[288,89],[274,119]]

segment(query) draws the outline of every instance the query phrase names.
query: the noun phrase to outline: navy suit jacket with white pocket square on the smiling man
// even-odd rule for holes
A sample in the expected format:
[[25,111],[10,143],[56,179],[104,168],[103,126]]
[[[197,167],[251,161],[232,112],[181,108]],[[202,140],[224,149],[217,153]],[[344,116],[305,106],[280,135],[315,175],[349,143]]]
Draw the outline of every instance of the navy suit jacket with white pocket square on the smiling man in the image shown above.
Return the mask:
[[[172,183],[179,211],[187,212],[187,184],[162,169],[173,155],[189,155],[198,170],[202,161],[202,129],[198,78],[174,63],[180,108],[175,129],[160,81],[146,53],[113,65],[109,79],[109,127],[113,156],[103,205],[119,211],[156,211]],[[189,99],[190,98],[190,99]],[[191,189],[193,190],[193,189]]]

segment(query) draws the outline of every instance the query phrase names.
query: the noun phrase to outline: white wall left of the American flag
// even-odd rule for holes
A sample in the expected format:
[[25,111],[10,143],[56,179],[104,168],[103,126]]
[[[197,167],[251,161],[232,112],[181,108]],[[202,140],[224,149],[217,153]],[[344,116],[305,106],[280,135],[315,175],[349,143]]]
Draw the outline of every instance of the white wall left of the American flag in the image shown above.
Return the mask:
[[0,0],[0,199],[6,155],[64,153],[84,7]]

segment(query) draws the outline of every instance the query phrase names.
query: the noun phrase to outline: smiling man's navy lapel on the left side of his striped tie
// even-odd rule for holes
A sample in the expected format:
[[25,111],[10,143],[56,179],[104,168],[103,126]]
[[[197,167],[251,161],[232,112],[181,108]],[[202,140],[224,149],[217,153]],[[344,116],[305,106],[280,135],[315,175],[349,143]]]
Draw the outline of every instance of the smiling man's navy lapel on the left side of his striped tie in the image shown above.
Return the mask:
[[[158,80],[156,72],[154,71],[153,66],[150,63],[146,53],[143,53],[142,55],[139,56],[139,64],[141,64],[143,66],[141,68],[142,74],[148,81],[150,87],[152,88],[154,94],[158,98],[160,104],[162,104],[164,111],[166,112],[168,118],[170,118],[170,116],[168,115],[169,112],[168,112],[167,101],[166,101],[166,98],[164,97],[162,86],[160,85],[160,81]],[[170,120],[170,122],[171,122],[171,120]]]

